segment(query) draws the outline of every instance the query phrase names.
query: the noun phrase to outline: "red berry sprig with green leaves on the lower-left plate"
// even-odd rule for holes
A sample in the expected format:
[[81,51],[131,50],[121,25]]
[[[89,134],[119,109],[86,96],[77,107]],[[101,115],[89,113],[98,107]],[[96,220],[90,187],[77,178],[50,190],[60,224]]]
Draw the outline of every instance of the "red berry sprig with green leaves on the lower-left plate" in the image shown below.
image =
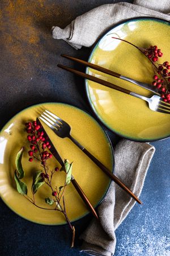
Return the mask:
[[[33,175],[32,178],[32,197],[27,195],[27,185],[21,180],[23,179],[25,172],[22,167],[22,155],[24,148],[22,148],[18,154],[16,155],[16,170],[14,174],[14,179],[16,182],[16,188],[20,194],[22,194],[25,199],[27,199],[31,204],[35,205],[36,207],[40,209],[45,210],[57,210],[61,212],[67,221],[67,224],[69,225],[69,228],[71,229],[71,232],[73,234],[72,241],[71,241],[71,247],[74,246],[74,239],[75,239],[75,228],[73,225],[71,225],[71,222],[69,220],[69,217],[66,213],[66,206],[65,206],[65,199],[64,199],[64,192],[66,186],[70,183],[71,180],[71,170],[72,170],[72,164],[69,163],[68,160],[65,159],[65,171],[66,171],[66,180],[65,184],[57,188],[53,188],[52,185],[52,179],[54,174],[56,174],[59,171],[58,167],[53,168],[53,170],[50,170],[48,161],[53,157],[53,155],[48,151],[50,148],[50,143],[48,142],[48,138],[44,137],[43,131],[40,130],[40,126],[37,125],[36,121],[33,122],[27,122],[25,124],[27,133],[29,134],[27,136],[28,141],[31,143],[29,147],[31,150],[28,151],[28,155],[31,156],[28,160],[29,162],[32,162],[33,159],[41,162],[42,171],[37,171]],[[62,169],[61,169],[62,170]],[[52,191],[52,198],[46,197],[45,202],[49,205],[56,205],[55,208],[44,208],[40,207],[36,204],[35,200],[35,193],[42,185],[48,185]]]

